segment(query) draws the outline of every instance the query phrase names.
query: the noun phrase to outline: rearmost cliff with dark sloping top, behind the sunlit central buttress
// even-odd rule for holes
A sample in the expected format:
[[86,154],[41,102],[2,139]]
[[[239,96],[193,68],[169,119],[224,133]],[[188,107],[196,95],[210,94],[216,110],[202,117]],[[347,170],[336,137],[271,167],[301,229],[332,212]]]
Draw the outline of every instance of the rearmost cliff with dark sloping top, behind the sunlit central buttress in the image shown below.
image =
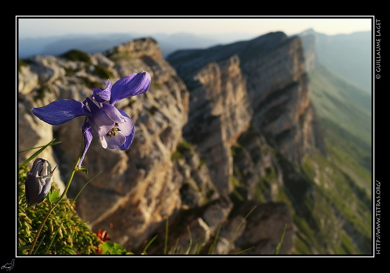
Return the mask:
[[[238,56],[241,78],[246,83],[243,107],[253,113],[251,124],[265,135],[267,142],[297,163],[312,147],[326,152],[324,136],[310,102],[300,38],[288,38],[282,32],[269,33],[251,41],[178,51],[167,60],[185,80],[190,100],[199,101],[202,95],[194,92],[199,88],[194,71],[233,55]],[[194,130],[189,135],[193,133]]]

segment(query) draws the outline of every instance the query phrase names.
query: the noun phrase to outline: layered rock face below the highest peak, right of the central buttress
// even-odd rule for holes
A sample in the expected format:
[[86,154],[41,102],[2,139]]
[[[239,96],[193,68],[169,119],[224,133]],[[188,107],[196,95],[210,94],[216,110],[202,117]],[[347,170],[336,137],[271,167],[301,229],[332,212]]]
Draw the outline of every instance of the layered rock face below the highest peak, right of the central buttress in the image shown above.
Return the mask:
[[310,101],[301,40],[290,38],[270,54],[243,64],[254,107],[254,126],[292,162],[312,147],[325,152],[321,128]]

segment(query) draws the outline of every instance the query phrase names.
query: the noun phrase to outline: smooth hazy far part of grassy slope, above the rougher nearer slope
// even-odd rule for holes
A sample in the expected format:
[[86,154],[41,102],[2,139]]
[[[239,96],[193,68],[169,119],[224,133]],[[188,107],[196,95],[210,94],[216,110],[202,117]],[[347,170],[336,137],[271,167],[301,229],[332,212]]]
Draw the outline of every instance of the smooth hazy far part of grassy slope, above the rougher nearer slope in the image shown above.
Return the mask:
[[323,66],[313,70],[310,79],[312,102],[333,155],[344,163],[340,166],[344,171],[370,190],[371,96],[339,80]]

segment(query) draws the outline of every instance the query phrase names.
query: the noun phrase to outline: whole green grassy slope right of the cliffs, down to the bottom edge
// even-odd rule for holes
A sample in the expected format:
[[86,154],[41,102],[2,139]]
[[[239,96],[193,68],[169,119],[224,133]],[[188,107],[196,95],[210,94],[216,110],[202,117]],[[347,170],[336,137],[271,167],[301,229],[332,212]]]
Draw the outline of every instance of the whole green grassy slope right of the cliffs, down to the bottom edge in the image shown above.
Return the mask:
[[325,67],[312,71],[310,78],[329,157],[315,154],[302,166],[307,179],[316,183],[305,202],[319,230],[313,231],[305,219],[294,216],[296,253],[369,253],[371,98]]

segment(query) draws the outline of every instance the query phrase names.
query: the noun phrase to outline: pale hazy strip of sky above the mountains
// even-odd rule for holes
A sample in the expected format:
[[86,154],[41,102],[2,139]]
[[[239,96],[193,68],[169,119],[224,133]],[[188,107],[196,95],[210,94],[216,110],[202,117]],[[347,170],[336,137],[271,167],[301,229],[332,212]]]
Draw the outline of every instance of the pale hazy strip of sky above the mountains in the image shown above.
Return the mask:
[[[20,16],[22,17],[22,16]],[[283,31],[298,34],[313,28],[316,32],[335,35],[370,31],[371,18],[20,18],[16,17],[19,39],[96,33],[177,33],[218,34],[243,32],[263,35]],[[369,18],[370,17],[370,18]]]

